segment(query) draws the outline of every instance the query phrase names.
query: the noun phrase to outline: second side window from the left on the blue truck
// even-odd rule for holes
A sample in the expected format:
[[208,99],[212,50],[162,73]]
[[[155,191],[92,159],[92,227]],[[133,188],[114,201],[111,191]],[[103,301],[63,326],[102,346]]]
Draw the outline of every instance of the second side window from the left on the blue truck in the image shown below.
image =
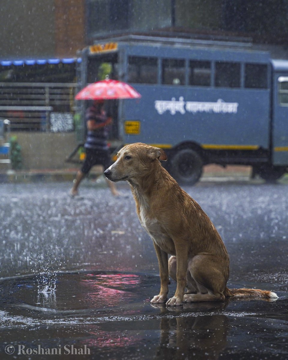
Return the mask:
[[182,59],[162,60],[162,84],[185,84],[185,61]]

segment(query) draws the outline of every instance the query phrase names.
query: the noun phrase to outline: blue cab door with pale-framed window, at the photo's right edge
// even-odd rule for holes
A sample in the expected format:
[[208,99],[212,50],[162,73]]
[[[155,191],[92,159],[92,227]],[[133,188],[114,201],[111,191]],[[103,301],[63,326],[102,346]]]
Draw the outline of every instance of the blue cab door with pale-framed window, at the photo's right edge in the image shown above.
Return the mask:
[[[287,62],[288,63],[288,62]],[[288,165],[288,72],[274,73],[272,162]]]

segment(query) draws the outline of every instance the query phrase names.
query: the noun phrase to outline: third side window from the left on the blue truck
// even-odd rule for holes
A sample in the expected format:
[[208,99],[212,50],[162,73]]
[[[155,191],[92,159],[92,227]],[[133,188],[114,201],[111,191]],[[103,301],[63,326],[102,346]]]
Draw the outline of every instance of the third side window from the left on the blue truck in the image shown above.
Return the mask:
[[190,61],[189,85],[210,86],[211,85],[211,62]]

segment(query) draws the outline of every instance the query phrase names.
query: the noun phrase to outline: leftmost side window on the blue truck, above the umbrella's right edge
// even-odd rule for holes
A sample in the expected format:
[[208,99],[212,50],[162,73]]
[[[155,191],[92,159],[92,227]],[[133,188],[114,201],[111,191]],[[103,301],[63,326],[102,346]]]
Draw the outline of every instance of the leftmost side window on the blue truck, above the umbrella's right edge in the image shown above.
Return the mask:
[[157,58],[128,57],[128,82],[157,84]]

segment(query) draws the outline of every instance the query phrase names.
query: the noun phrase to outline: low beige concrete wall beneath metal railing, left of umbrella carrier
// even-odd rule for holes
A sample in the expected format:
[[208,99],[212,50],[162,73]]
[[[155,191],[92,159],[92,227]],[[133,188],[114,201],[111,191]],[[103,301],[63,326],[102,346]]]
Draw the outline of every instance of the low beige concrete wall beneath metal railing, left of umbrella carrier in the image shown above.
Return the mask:
[[77,167],[65,163],[76,148],[75,132],[13,132],[22,147],[23,170]]

